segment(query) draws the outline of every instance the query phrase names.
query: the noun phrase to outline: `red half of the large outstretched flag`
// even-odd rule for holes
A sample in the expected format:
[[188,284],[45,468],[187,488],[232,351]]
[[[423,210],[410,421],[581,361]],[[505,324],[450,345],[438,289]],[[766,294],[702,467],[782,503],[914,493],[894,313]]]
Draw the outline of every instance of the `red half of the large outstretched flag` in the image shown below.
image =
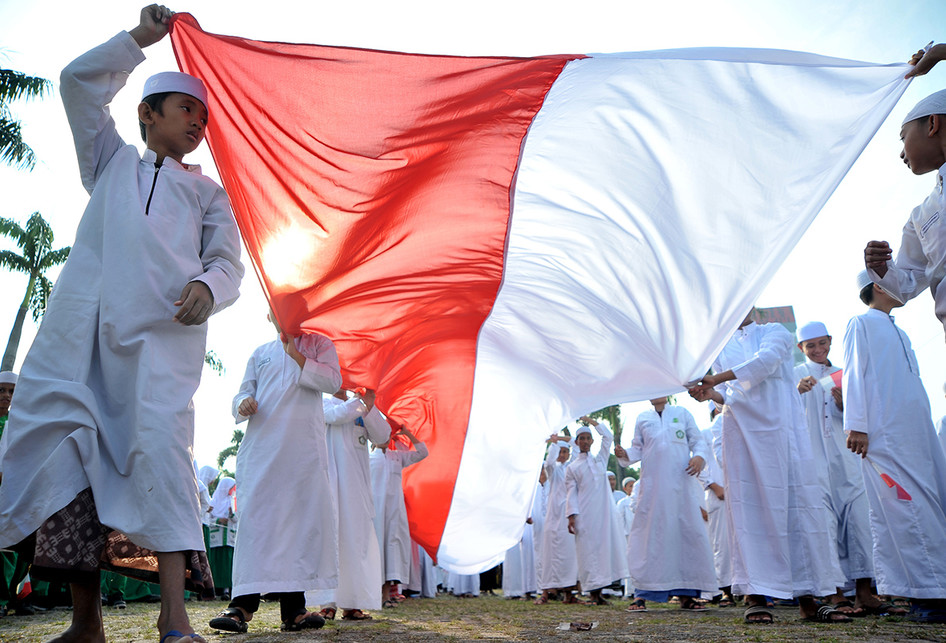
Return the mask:
[[174,17],[207,138],[283,329],[334,340],[345,386],[427,443],[404,474],[436,556],[499,288],[529,124],[576,56],[462,58],[265,43]]

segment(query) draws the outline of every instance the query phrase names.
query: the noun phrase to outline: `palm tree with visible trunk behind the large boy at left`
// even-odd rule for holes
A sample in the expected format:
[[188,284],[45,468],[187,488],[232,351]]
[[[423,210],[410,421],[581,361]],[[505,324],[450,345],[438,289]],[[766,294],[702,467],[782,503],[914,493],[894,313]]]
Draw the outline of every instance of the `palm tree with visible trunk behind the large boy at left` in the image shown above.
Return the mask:
[[23,331],[23,322],[26,311],[33,312],[33,321],[38,322],[46,312],[46,302],[53,288],[52,282],[44,274],[53,266],[65,262],[71,248],[53,250],[53,229],[39,212],[34,212],[26,222],[26,227],[12,219],[0,217],[0,234],[10,237],[16,242],[22,254],[13,250],[0,250],[0,266],[15,272],[25,273],[29,277],[26,284],[26,294],[16,313],[13,330],[7,341],[7,349],[0,362],[0,370],[13,369],[16,362],[16,351],[20,345],[20,333]]

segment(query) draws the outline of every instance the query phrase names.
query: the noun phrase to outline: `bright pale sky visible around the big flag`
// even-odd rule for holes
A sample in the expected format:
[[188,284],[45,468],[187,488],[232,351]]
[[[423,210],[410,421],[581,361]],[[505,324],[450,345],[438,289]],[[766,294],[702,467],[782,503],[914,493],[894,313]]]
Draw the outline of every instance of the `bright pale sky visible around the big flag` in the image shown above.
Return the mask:
[[[63,6],[69,11],[63,11]],[[942,41],[943,34],[936,26],[946,25],[946,3],[941,0],[306,0],[194,2],[170,8],[192,13],[203,29],[214,33],[456,55],[531,56],[719,46],[792,49],[890,63],[905,61],[931,40]],[[0,3],[0,66],[49,78],[55,86],[54,94],[45,100],[12,105],[38,163],[32,172],[0,168],[0,216],[25,222],[32,212],[41,212],[56,232],[56,247],[72,243],[88,200],[79,182],[72,139],[58,98],[59,72],[70,60],[119,30],[134,27],[139,9],[127,0],[82,5],[54,0]],[[119,132],[139,146],[135,106],[144,80],[152,73],[176,69],[169,39],[145,53],[148,60],[132,74],[112,105]],[[759,299],[762,306],[794,306],[799,322],[825,322],[835,337],[835,361],[841,358],[847,320],[863,312],[853,280],[863,267],[864,245],[870,239],[887,239],[898,247],[910,210],[933,187],[931,175],[913,176],[900,161],[900,121],[916,101],[944,86],[946,67],[912,83]],[[187,160],[200,163],[206,174],[216,178],[206,145]],[[0,240],[0,247],[10,244]],[[0,273],[0,291],[5,295],[0,299],[0,340],[4,345],[25,287],[25,277]],[[265,320],[266,304],[249,265],[242,292],[237,304],[210,322],[208,348],[221,357],[226,375],[205,371],[195,398],[195,449],[201,464],[212,463],[229,442],[233,429],[230,400],[239,387],[246,360],[256,346],[273,338]],[[932,299],[924,294],[896,317],[913,340],[933,415],[938,418],[946,414],[942,389],[946,344],[942,325],[933,316]],[[17,368],[34,334],[35,327],[28,321]],[[706,426],[700,405],[690,404],[685,394],[678,399],[695,410],[700,426]],[[626,423],[631,423],[640,409],[640,405],[625,407]]]

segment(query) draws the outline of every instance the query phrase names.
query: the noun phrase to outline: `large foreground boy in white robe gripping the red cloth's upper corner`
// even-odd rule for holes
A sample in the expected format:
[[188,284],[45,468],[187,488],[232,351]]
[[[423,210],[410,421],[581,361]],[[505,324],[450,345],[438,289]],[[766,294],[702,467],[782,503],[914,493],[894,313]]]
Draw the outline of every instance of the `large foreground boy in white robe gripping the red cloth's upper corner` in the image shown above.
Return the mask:
[[[210,581],[198,553],[191,399],[204,322],[238,296],[239,235],[223,189],[183,164],[209,116],[199,79],[165,72],[147,81],[143,155],[108,108],[170,18],[145,7],[138,26],[74,60],[61,79],[91,197],[21,371],[5,436],[0,546],[36,534],[34,577],[70,582],[68,637],[104,638],[94,551],[113,533],[123,550],[104,548],[113,568],[126,554],[157,553],[165,643],[202,640],[184,606],[185,582],[202,591]],[[89,530],[72,529],[75,512]],[[66,547],[65,538],[85,542]]]

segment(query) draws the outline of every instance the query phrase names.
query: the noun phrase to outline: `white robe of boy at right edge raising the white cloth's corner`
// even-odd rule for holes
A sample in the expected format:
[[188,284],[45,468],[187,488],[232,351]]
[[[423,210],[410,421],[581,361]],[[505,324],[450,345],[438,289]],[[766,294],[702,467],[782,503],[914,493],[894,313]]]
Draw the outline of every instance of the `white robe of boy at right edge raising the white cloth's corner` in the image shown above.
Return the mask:
[[887,262],[883,278],[868,269],[871,279],[906,303],[927,288],[936,302],[936,316],[946,328],[946,196],[943,177],[946,164],[936,173],[936,186],[920,205],[913,208],[903,226],[897,258]]

